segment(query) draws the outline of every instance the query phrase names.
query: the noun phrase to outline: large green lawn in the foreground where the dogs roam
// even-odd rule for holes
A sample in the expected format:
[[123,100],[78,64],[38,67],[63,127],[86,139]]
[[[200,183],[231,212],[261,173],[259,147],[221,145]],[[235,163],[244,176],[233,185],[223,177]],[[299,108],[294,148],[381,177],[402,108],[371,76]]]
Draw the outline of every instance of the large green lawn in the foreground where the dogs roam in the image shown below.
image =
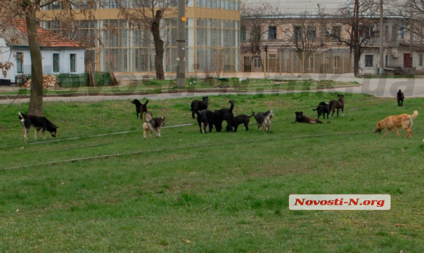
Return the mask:
[[[35,142],[32,129],[27,144],[28,104],[0,105],[0,252],[424,252],[424,117],[412,139],[374,133],[424,100],[346,94],[345,117],[293,124],[335,98],[211,96],[212,110],[234,99],[235,115],[275,117],[269,133],[251,119],[249,131],[208,134],[193,98],[152,100],[167,127],[147,140],[130,100],[45,103],[58,137]],[[301,193],[390,194],[391,209],[290,211]]]

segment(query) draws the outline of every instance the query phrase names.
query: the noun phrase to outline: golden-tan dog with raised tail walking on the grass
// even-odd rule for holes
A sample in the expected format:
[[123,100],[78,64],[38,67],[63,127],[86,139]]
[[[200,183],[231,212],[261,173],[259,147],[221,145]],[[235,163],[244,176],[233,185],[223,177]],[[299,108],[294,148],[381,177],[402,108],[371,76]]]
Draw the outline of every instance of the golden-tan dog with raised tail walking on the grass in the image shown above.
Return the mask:
[[400,137],[397,128],[402,127],[406,131],[406,138],[412,138],[412,120],[417,118],[418,111],[414,111],[412,115],[409,114],[400,114],[389,116],[386,119],[380,121],[375,126],[375,131],[381,133],[381,131],[387,128],[387,132],[383,134],[383,138],[386,137],[392,130],[396,132],[397,137]]

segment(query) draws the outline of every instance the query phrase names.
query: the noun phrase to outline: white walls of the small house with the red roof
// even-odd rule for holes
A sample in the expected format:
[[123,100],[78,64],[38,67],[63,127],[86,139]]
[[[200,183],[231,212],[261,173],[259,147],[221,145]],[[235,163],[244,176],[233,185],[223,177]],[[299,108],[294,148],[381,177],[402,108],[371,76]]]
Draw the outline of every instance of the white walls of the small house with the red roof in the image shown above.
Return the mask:
[[[15,55],[17,52],[23,54],[23,73],[31,74],[31,57],[29,49],[10,49],[10,47],[1,46],[0,38],[0,62],[11,62],[13,66],[7,71],[6,76],[0,71],[0,79],[10,79],[12,83],[15,82],[15,76],[17,73]],[[60,72],[53,73],[53,53],[59,54],[59,68]],[[70,55],[76,54],[75,59],[75,70],[76,72],[71,73],[71,59]],[[44,74],[60,74],[60,73],[71,73],[71,74],[82,74],[85,72],[85,49],[41,49],[41,57],[43,64]]]

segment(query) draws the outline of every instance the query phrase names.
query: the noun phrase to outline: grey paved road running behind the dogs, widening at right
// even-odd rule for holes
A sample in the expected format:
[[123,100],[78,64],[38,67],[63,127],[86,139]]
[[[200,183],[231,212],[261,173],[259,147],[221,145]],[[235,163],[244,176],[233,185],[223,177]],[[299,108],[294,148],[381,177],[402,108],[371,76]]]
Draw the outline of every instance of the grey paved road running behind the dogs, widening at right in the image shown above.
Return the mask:
[[[271,79],[287,79],[287,76],[270,76]],[[405,94],[406,97],[424,97],[424,79],[363,79],[355,78],[352,74],[345,75],[302,75],[301,77],[292,76],[289,79],[315,79],[315,80],[335,80],[335,81],[356,81],[358,86],[351,87],[340,87],[334,89],[322,89],[318,91],[322,92],[339,92],[339,93],[364,93],[369,95],[375,95],[378,97],[395,97],[399,89]],[[17,90],[16,87],[0,86],[0,92]],[[131,87],[122,87],[122,92],[130,92]],[[302,91],[255,91],[255,92],[243,92],[242,94],[256,95],[256,94],[285,94],[285,93],[297,93]],[[314,92],[314,91],[310,91]],[[147,97],[152,100],[160,99],[172,99],[186,96],[204,96],[204,95],[228,95],[237,94],[235,92],[208,92],[208,93],[170,93],[170,94],[154,94],[154,95],[84,95],[84,96],[56,96],[56,97],[44,97],[43,101],[102,101],[102,100],[116,100],[116,99],[134,99]],[[0,99],[0,104],[13,103],[25,103],[29,101],[29,98],[17,98],[17,99]]]

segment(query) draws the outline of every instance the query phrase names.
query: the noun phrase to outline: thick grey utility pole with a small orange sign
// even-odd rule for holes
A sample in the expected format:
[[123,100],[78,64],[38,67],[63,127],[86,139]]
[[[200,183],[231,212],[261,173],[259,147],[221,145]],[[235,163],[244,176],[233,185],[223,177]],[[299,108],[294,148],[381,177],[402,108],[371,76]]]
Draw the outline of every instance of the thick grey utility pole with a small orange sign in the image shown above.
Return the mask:
[[178,0],[177,22],[177,87],[185,86],[185,0]]

